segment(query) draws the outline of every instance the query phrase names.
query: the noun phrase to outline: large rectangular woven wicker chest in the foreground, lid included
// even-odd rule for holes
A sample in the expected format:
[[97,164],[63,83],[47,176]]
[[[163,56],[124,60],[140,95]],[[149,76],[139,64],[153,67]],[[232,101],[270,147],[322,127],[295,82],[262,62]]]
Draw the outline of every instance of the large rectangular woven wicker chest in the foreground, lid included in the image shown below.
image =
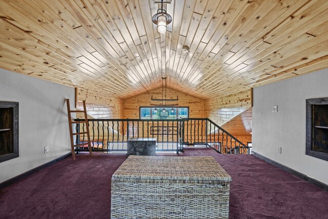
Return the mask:
[[112,177],[111,218],[228,218],[230,181],[213,157],[131,155]]

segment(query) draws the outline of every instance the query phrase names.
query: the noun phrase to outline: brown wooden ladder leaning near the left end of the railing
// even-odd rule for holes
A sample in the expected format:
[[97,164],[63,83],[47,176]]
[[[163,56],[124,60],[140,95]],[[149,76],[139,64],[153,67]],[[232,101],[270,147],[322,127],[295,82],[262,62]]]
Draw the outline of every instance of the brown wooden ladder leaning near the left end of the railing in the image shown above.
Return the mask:
[[[72,156],[73,156],[73,160],[75,161],[75,150],[74,150],[74,147],[88,145],[90,155],[92,155],[92,148],[91,148],[91,143],[90,143],[90,133],[89,133],[89,122],[88,122],[87,108],[86,108],[86,102],[85,101],[83,101],[83,110],[71,110],[71,108],[70,108],[70,100],[69,99],[66,99],[66,104],[67,104],[67,112],[68,112],[67,113],[67,115],[68,115],[68,123],[69,123],[69,126],[70,126],[70,137],[71,137]],[[71,113],[76,113],[76,112],[82,112],[82,113],[84,113],[84,121],[78,121],[78,122],[72,121]],[[85,123],[86,124],[86,128],[87,128],[87,131],[73,133],[72,125],[73,124],[77,124],[77,123]],[[74,135],[80,135],[80,134],[87,134],[87,136],[88,136],[88,142],[87,143],[78,144],[78,145],[74,145],[73,136]]]

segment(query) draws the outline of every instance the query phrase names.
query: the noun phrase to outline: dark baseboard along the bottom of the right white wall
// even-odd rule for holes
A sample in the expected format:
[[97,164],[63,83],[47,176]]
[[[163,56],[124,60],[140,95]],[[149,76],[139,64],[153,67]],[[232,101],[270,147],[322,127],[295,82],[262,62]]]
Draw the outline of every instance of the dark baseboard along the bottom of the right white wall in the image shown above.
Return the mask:
[[291,169],[289,167],[286,167],[286,166],[284,166],[282,164],[279,164],[279,163],[277,163],[277,162],[269,159],[268,157],[265,157],[265,156],[263,156],[263,155],[261,155],[259,153],[254,152],[254,151],[252,151],[252,154],[254,156],[260,158],[261,160],[263,160],[263,161],[265,161],[265,162],[267,162],[269,164],[272,164],[272,165],[280,168],[281,170],[283,170],[285,172],[291,173],[291,174],[293,174],[293,175],[301,178],[301,180],[304,180],[304,181],[306,181],[308,183],[311,183],[312,185],[315,185],[315,186],[319,187],[320,189],[323,189],[325,191],[328,191],[328,185],[326,185],[326,184],[324,184],[324,183],[322,183],[320,181],[317,181],[314,178],[311,178],[311,177],[309,177],[307,175],[304,175],[303,173],[300,173],[300,172],[298,172],[296,170],[293,170],[293,169]]

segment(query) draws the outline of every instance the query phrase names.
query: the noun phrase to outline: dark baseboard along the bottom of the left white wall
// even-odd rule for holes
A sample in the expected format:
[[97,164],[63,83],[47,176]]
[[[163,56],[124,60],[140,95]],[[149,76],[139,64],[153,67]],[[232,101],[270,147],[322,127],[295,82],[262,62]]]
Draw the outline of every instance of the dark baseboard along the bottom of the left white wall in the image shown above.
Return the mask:
[[6,180],[5,182],[0,183],[0,189],[4,188],[6,186],[9,186],[10,184],[13,184],[17,181],[23,180],[23,178],[26,178],[27,176],[32,175],[33,173],[36,173],[36,172],[38,172],[42,169],[45,169],[46,167],[49,167],[49,166],[57,163],[58,161],[64,160],[65,158],[67,158],[69,156],[72,156],[71,152],[67,153],[63,156],[60,156],[60,157],[56,158],[55,160],[49,161],[48,163],[45,163],[45,164],[40,165],[38,167],[35,167],[35,168],[33,168],[29,171],[26,171],[25,173],[22,173],[22,174],[19,174],[19,175],[15,176],[15,177],[12,177],[9,180]]

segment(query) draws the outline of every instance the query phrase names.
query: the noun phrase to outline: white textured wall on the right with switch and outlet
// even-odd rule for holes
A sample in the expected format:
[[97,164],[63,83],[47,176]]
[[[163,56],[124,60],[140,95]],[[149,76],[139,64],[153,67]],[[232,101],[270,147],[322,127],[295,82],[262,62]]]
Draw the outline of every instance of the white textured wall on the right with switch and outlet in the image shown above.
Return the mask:
[[305,155],[305,99],[328,97],[328,69],[253,91],[253,151],[328,184],[328,162]]

